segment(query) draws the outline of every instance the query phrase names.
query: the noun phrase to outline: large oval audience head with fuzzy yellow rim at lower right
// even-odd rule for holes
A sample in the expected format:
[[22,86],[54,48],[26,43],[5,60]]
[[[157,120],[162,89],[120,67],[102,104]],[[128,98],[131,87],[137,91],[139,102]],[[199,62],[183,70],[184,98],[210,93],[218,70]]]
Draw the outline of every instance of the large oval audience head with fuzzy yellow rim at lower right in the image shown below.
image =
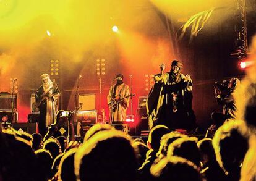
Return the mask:
[[213,137],[213,148],[224,172],[237,172],[248,149],[245,123],[239,120],[225,122]]

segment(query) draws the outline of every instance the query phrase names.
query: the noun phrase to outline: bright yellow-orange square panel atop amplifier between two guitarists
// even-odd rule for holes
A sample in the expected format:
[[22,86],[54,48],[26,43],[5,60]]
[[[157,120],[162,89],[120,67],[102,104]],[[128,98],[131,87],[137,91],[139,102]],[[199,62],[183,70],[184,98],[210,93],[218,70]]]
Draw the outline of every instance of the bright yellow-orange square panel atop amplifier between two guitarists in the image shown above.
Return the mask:
[[86,111],[86,110],[93,110],[96,109],[95,107],[95,94],[87,94],[87,95],[79,95],[79,105],[82,104],[79,111]]

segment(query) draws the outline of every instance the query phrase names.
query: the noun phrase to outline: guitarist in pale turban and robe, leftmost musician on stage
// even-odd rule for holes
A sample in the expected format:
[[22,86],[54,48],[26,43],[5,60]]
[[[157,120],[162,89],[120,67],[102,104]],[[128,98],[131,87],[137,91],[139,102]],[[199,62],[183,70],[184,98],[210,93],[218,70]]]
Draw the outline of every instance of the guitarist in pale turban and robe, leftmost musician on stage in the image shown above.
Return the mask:
[[42,74],[41,80],[43,85],[36,91],[36,104],[40,108],[38,130],[41,135],[45,135],[48,126],[56,120],[61,91],[59,86],[51,81],[48,74]]

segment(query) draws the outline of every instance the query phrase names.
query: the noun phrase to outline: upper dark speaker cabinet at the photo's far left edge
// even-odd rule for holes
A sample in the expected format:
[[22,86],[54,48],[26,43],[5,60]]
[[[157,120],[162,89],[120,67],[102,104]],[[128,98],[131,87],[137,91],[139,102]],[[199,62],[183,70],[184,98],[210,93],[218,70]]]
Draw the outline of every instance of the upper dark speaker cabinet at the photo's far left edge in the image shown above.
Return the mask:
[[17,109],[17,94],[0,93],[0,110],[12,111],[12,99],[14,102],[14,109]]

